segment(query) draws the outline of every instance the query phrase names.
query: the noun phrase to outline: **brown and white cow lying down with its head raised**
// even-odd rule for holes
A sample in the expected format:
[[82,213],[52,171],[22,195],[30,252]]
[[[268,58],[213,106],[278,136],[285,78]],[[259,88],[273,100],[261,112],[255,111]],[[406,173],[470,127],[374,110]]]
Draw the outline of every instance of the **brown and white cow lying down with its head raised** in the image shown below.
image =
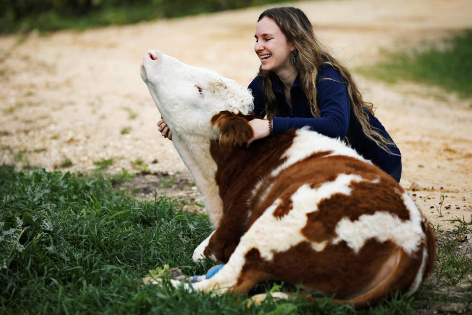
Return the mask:
[[412,198],[344,142],[302,128],[246,148],[246,88],[154,50],[141,76],[215,226],[194,259],[225,263],[194,289],[283,280],[362,307],[431,270],[435,236]]

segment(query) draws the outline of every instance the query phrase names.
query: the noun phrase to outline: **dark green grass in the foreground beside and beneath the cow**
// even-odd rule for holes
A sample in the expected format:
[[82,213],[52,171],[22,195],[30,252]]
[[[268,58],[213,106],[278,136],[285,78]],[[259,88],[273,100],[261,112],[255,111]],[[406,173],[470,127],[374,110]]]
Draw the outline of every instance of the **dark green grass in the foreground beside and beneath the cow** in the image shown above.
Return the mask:
[[[142,202],[113,188],[129,177],[0,166],[0,314],[415,314],[415,296],[398,293],[354,311],[329,298],[269,299],[247,308],[246,296],[187,292],[167,281],[141,286],[138,279],[166,264],[204,274],[214,262],[195,263],[191,255],[211,226],[170,199]],[[451,270],[465,258],[451,248],[443,256],[440,274],[456,283]],[[259,284],[251,294],[272,287]]]

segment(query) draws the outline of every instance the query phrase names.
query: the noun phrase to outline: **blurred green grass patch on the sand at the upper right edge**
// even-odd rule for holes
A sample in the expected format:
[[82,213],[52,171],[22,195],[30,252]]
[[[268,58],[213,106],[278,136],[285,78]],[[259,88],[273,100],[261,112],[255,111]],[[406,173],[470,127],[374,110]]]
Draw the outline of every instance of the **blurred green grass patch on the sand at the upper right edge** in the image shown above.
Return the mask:
[[425,43],[426,49],[387,54],[387,61],[356,71],[389,83],[420,82],[455,92],[462,98],[472,96],[472,30]]

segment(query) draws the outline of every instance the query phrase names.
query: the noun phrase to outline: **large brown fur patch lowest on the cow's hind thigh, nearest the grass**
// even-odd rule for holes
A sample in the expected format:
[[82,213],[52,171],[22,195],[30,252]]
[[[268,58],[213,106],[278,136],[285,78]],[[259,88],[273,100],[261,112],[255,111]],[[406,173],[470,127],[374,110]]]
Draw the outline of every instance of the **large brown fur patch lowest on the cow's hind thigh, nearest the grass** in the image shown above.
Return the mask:
[[[383,267],[397,245],[386,241],[369,240],[356,254],[345,242],[329,244],[323,252],[316,252],[309,242],[302,242],[288,251],[275,253],[270,261],[264,260],[256,248],[245,255],[238,283],[247,278],[248,272],[264,272],[270,278],[326,294],[356,295],[366,288]],[[408,257],[407,257],[408,258]],[[417,270],[417,261],[408,258],[403,262],[402,273]],[[402,275],[392,289],[406,289],[413,281],[410,275]],[[388,293],[388,292],[387,292]]]

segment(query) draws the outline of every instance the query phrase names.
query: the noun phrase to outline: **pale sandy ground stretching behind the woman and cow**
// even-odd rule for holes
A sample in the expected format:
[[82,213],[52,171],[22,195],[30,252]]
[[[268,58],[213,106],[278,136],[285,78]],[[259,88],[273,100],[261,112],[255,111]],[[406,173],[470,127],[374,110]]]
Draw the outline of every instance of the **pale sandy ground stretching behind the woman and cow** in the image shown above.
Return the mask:
[[[470,0],[296,2],[332,52],[349,67],[378,61],[382,49],[472,28]],[[186,173],[139,75],[159,49],[247,85],[259,62],[256,19],[265,7],[202,14],[86,32],[0,36],[0,163],[90,171]],[[401,185],[443,229],[472,220],[472,100],[416,84],[388,86],[357,76],[366,100],[403,154]],[[66,159],[72,166],[60,168]],[[187,173],[188,174],[188,173]],[[415,190],[412,188],[416,187]],[[442,197],[444,203],[441,205]],[[442,216],[440,216],[440,212]]]

